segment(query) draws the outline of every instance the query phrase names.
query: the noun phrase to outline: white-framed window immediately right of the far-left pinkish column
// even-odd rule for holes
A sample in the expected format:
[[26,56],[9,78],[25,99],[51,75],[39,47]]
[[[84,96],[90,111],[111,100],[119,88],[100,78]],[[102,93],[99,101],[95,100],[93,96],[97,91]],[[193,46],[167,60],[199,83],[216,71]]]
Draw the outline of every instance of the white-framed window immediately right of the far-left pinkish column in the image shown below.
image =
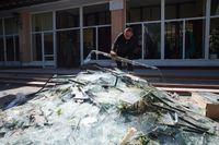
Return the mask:
[[32,15],[32,51],[34,61],[43,61],[44,64],[47,61],[54,61],[53,26],[53,12]]

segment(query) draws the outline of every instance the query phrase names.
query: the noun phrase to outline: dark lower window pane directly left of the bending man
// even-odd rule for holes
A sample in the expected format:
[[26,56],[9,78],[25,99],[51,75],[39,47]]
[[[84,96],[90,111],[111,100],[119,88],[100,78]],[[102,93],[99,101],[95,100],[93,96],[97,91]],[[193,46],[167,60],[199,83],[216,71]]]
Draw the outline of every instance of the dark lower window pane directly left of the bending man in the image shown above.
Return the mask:
[[[110,52],[111,51],[111,27],[100,27],[99,28],[99,48],[100,51]],[[108,59],[104,56],[99,56],[99,59]]]

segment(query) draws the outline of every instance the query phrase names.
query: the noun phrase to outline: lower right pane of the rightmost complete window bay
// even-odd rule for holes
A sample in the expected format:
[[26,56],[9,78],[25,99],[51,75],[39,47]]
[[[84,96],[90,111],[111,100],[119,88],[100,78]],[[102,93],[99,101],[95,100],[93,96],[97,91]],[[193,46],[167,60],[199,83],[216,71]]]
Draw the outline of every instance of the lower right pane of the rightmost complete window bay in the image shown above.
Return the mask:
[[186,21],[185,25],[185,58],[203,59],[205,41],[205,21]]

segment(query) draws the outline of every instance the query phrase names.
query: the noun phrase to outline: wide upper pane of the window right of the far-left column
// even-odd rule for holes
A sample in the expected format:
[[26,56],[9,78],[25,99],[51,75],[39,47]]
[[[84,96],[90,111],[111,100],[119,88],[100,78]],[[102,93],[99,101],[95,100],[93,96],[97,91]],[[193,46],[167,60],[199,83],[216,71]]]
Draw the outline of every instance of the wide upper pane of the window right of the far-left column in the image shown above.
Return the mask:
[[32,31],[51,31],[53,29],[53,13],[41,13],[32,15]]

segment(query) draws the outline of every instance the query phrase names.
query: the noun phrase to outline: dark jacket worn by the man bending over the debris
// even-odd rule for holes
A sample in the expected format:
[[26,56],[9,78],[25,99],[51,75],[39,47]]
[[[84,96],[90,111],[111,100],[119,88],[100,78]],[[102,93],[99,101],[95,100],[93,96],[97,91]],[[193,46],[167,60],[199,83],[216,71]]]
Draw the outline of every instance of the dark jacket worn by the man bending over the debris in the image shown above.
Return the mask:
[[128,59],[132,59],[134,51],[137,48],[138,41],[136,37],[131,37],[130,39],[126,39],[124,34],[119,34],[115,39],[112,50],[115,51],[119,57],[128,57]]

